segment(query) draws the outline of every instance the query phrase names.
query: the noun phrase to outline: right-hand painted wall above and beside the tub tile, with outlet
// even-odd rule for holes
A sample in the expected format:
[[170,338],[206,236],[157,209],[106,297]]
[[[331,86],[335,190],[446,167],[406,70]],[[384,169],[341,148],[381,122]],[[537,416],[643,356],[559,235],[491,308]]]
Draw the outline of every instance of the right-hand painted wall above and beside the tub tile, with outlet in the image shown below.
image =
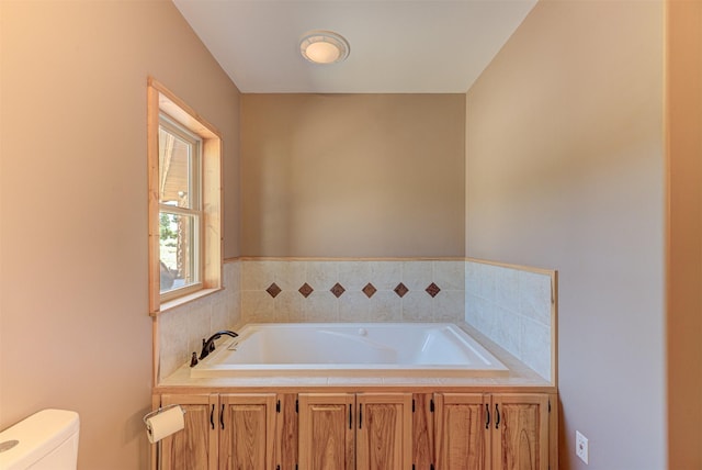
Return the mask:
[[663,10],[540,2],[467,93],[466,255],[558,270],[562,469],[666,468]]

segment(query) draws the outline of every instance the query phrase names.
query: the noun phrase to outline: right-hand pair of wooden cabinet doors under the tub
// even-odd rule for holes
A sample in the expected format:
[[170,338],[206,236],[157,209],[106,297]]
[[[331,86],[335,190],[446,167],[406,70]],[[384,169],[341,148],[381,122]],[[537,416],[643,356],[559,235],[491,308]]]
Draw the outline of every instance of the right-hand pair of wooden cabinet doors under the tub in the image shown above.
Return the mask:
[[547,470],[550,402],[541,393],[437,393],[437,470]]

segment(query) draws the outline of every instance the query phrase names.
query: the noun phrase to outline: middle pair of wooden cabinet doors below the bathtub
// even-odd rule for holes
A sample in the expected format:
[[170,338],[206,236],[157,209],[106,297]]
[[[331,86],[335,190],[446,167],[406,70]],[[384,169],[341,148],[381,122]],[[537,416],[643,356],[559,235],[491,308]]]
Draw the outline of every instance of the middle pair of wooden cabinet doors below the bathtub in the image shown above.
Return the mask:
[[410,393],[301,393],[299,468],[409,470]]

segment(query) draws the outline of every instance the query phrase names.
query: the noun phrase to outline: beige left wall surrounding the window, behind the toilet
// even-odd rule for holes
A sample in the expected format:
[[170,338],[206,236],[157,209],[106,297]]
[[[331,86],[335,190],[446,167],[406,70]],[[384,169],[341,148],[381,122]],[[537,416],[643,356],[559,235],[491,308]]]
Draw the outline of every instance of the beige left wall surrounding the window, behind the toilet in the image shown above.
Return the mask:
[[0,427],[76,410],[79,468],[147,468],[147,76],[223,134],[226,256],[239,93],[170,1],[0,14]]

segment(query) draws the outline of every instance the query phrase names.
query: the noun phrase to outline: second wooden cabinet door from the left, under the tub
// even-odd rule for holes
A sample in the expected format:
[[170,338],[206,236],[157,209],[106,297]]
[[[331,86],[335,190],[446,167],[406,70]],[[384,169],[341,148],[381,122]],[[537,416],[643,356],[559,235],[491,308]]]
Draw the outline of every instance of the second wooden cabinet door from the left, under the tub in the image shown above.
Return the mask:
[[219,469],[273,470],[275,394],[219,396]]

